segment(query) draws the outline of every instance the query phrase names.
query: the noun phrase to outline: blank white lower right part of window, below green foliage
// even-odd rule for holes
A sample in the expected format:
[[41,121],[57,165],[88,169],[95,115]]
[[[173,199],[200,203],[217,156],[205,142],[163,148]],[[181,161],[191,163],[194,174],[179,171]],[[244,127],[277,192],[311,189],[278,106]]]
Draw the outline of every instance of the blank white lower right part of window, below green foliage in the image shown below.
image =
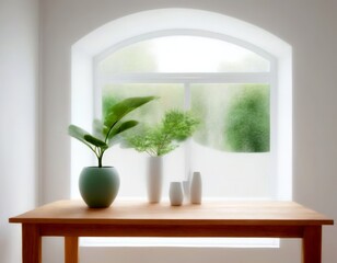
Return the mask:
[[202,176],[202,196],[269,199],[274,196],[269,152],[224,152],[194,142],[190,170]]

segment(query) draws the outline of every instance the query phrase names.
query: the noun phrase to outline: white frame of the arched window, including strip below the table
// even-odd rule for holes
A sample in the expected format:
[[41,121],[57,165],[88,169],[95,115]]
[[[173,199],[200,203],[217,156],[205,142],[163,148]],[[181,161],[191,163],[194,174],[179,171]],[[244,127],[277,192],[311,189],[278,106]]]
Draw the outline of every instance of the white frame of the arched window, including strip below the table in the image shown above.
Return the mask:
[[[161,72],[141,72],[141,73],[118,73],[118,75],[107,75],[100,76],[98,73],[98,65],[102,60],[104,60],[112,53],[117,52],[119,48],[136,44],[141,41],[147,41],[151,38],[162,37],[162,36],[201,36],[216,38],[220,41],[224,41],[231,44],[235,44],[243,48],[246,48],[259,56],[264,57],[270,64],[269,72],[214,72],[214,73],[161,73]],[[239,44],[240,43],[240,44]],[[233,37],[220,36],[219,34],[205,33],[201,31],[163,31],[155,32],[142,36],[137,36],[131,39],[126,39],[123,43],[119,43],[104,53],[100,54],[94,58],[94,115],[97,118],[102,117],[102,90],[103,83],[113,83],[113,84],[143,84],[143,83],[179,83],[184,85],[185,90],[185,108],[190,106],[190,93],[189,87],[195,83],[266,83],[269,84],[270,90],[270,155],[271,160],[277,160],[277,151],[276,140],[274,133],[277,130],[275,125],[277,122],[275,112],[277,108],[277,100],[275,95],[275,91],[277,90],[276,83],[276,59],[266,54],[264,50],[252,46],[245,42],[234,39]],[[186,151],[186,155],[188,150]],[[185,159],[188,162],[188,157]],[[275,167],[276,171],[276,165]],[[188,170],[188,167],[186,168]],[[186,173],[187,176],[187,173]],[[277,180],[276,176],[272,180],[272,193],[274,196],[270,199],[277,199]],[[135,241],[136,240],[136,241]],[[212,248],[278,248],[279,239],[148,239],[148,238],[138,238],[138,239],[119,239],[119,238],[111,238],[111,239],[84,239],[81,242],[84,247],[212,247]]]

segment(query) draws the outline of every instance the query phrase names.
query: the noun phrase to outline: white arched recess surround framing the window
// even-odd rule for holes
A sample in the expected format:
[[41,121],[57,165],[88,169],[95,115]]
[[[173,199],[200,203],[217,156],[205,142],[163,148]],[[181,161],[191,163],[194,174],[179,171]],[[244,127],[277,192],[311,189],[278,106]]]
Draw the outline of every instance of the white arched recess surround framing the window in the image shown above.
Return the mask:
[[[208,11],[193,9],[161,9],[143,11],[114,20],[78,41],[71,50],[71,123],[90,129],[94,116],[93,65],[96,57],[135,38],[170,35],[170,32],[198,33],[230,38],[276,60],[274,99],[277,107],[276,141],[278,199],[292,198],[292,60],[291,46],[269,32],[246,22]],[[262,55],[264,55],[262,54]],[[83,165],[91,162],[77,142],[71,142],[72,185]]]

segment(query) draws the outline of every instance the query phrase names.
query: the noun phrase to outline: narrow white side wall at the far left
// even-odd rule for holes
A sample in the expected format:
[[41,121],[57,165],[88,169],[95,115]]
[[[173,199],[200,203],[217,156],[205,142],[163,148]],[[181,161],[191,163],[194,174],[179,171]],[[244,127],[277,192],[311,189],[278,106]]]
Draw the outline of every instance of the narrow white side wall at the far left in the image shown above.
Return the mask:
[[38,1],[0,1],[0,262],[21,262],[9,217],[37,201]]

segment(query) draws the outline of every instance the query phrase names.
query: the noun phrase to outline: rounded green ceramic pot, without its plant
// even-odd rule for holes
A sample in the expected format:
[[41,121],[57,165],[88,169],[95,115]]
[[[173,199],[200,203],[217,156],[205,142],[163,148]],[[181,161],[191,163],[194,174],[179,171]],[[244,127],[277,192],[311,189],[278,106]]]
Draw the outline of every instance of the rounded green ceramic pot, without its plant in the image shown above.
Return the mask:
[[80,193],[91,208],[109,207],[119,190],[119,175],[113,167],[88,167],[80,174]]

